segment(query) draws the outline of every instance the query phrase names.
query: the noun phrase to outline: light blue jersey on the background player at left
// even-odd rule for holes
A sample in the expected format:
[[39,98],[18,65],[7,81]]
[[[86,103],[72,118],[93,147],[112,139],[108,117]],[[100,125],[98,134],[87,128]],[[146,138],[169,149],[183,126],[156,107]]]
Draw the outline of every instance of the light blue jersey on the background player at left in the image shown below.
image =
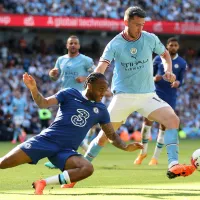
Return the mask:
[[59,69],[61,88],[75,88],[79,91],[84,90],[84,82],[78,83],[76,78],[79,76],[88,76],[92,72],[93,60],[83,54],[76,57],[68,55],[60,56],[55,64]]

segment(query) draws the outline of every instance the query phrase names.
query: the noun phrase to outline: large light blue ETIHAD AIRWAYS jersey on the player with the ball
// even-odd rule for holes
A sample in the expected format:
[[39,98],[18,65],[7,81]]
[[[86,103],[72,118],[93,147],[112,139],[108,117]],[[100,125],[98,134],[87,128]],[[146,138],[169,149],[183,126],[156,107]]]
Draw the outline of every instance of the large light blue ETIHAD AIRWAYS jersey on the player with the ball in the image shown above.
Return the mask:
[[155,91],[152,54],[162,55],[165,47],[154,34],[142,31],[135,40],[127,40],[124,32],[114,37],[106,46],[100,61],[114,60],[112,92],[150,93]]

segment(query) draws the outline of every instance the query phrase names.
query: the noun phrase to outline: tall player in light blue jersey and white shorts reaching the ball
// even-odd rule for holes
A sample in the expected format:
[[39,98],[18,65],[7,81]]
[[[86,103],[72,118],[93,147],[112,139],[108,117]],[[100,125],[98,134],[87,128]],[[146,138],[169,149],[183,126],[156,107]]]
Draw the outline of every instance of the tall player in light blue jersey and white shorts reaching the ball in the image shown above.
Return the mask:
[[[134,111],[157,121],[166,127],[165,145],[168,155],[167,176],[188,176],[195,168],[178,161],[179,118],[174,110],[155,93],[152,54],[160,55],[164,64],[164,78],[173,83],[172,61],[169,52],[155,34],[142,31],[146,13],[140,7],[129,7],[125,11],[125,29],[106,46],[96,72],[104,74],[112,60],[115,68],[112,78],[114,97],[108,107],[111,122],[117,130]],[[104,131],[90,143],[85,157],[92,161],[108,139]]]

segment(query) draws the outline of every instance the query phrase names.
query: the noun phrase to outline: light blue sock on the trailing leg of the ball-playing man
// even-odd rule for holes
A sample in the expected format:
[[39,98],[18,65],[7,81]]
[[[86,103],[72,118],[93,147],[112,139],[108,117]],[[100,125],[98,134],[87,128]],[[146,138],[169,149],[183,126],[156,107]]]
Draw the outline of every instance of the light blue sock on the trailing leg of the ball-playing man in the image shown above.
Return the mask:
[[90,143],[87,152],[85,153],[84,157],[92,162],[93,159],[99,154],[99,152],[101,151],[101,149],[103,148],[103,146],[99,146],[98,145],[98,141],[97,138],[95,138],[94,140],[92,140],[92,142]]

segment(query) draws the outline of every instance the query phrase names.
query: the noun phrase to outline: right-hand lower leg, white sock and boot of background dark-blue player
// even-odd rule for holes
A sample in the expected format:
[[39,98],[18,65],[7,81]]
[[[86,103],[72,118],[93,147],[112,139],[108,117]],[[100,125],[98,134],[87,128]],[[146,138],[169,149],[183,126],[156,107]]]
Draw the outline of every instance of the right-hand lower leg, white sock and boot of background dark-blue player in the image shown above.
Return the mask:
[[156,147],[154,150],[154,154],[151,158],[151,161],[149,162],[149,165],[157,165],[158,164],[158,158],[160,156],[163,146],[164,146],[164,131],[159,129]]

